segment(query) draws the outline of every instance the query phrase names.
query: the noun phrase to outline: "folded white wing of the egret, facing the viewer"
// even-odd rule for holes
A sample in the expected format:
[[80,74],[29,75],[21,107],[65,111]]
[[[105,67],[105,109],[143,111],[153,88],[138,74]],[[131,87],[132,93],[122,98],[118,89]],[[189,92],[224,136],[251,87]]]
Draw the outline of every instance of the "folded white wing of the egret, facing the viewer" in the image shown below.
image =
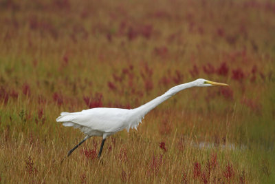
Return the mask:
[[94,108],[81,112],[64,113],[56,121],[76,123],[100,132],[118,132],[124,129],[129,110],[118,108]]

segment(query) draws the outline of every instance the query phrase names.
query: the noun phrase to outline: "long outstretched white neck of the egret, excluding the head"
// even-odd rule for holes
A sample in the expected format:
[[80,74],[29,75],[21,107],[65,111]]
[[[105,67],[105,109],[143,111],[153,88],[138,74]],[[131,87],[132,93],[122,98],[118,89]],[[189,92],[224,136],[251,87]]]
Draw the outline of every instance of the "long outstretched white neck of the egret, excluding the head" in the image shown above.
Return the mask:
[[157,107],[157,105],[166,101],[177,92],[180,92],[181,90],[185,90],[187,88],[192,88],[194,86],[195,86],[194,82],[176,85],[175,87],[170,88],[170,90],[168,90],[166,93],[162,94],[162,96],[158,96],[157,98],[149,101],[148,103],[145,103],[144,105],[141,105],[138,108],[135,108],[134,110],[137,112],[140,118],[143,118],[148,112],[150,112],[155,107]]

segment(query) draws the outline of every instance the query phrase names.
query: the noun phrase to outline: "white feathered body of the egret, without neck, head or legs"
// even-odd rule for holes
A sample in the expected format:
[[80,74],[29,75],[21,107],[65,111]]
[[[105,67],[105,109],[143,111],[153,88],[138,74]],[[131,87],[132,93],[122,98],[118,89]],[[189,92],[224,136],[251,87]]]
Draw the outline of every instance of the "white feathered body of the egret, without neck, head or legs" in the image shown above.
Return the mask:
[[81,112],[62,112],[56,119],[64,122],[66,127],[79,128],[81,132],[89,136],[107,136],[126,128],[128,131],[137,127],[141,119],[136,110],[118,108],[93,108]]

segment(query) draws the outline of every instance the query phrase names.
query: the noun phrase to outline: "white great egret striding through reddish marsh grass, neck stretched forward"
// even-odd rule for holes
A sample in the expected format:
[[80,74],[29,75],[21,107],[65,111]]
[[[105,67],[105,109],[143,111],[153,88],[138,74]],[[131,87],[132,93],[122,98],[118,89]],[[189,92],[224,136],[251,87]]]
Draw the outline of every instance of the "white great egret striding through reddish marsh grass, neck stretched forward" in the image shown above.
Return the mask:
[[79,145],[89,139],[89,137],[102,136],[102,143],[98,153],[98,158],[100,158],[104,141],[107,136],[120,132],[124,130],[124,128],[128,132],[130,128],[135,128],[137,130],[137,125],[142,122],[142,119],[144,119],[144,116],[148,112],[181,90],[196,86],[207,87],[212,85],[228,84],[197,79],[190,83],[176,85],[175,87],[170,88],[166,93],[162,94],[162,96],[158,96],[152,101],[131,110],[119,108],[92,108],[81,112],[61,112],[61,116],[56,119],[57,122],[63,122],[65,127],[79,128],[80,131],[86,135],[83,141],[78,143],[78,145],[76,145],[72,150],[69,150],[67,156],[72,154],[72,152],[74,152]]

